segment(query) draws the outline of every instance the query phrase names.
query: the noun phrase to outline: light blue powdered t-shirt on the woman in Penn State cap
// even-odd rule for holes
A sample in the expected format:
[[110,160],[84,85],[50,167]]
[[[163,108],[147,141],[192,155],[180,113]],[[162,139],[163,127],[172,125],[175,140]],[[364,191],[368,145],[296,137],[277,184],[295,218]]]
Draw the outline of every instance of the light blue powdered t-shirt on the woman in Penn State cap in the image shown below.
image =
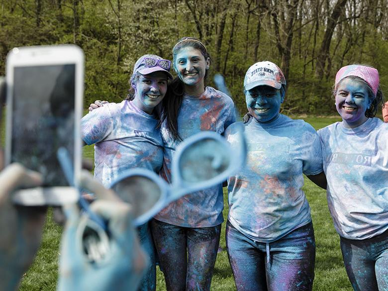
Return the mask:
[[[232,147],[236,124],[225,132]],[[228,179],[228,219],[250,239],[273,242],[311,221],[302,174],[323,171],[319,137],[310,124],[283,114],[270,123],[251,118],[244,131],[247,162]]]

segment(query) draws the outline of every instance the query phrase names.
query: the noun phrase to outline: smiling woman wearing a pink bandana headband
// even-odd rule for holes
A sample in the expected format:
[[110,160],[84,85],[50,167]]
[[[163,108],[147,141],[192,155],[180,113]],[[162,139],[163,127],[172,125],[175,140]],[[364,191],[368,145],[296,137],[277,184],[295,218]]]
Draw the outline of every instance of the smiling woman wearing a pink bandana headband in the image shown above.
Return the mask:
[[379,72],[350,65],[335,78],[342,122],[318,130],[327,200],[355,291],[388,290],[388,124],[375,118],[383,104]]

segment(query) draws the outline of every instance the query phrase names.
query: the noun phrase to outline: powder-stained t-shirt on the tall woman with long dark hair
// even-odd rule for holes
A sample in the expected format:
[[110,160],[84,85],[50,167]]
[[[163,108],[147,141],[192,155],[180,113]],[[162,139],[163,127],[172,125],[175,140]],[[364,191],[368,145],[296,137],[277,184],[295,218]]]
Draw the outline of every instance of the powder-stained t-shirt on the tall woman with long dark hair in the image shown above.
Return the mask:
[[[211,130],[222,134],[235,122],[232,99],[211,87],[200,96],[184,95],[178,114],[178,132],[184,140],[200,131]],[[174,140],[162,126],[165,142],[161,177],[171,183],[172,159],[179,141]],[[217,185],[183,196],[159,212],[157,220],[182,227],[211,227],[222,223],[222,186]]]

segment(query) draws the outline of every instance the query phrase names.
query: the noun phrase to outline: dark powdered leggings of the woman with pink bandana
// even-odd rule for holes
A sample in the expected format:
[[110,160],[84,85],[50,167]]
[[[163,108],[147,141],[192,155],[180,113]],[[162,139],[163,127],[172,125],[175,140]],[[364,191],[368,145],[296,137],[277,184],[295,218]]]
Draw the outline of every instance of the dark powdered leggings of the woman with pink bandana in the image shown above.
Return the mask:
[[355,291],[388,291],[388,231],[353,240],[340,237],[346,273]]

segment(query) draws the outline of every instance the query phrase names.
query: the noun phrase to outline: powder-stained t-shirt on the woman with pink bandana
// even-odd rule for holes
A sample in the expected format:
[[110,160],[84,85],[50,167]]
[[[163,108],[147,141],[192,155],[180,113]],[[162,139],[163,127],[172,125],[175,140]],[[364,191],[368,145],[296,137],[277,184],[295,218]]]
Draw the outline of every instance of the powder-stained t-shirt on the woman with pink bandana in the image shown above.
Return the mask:
[[388,230],[388,124],[368,118],[355,128],[336,122],[318,131],[334,227],[348,239]]

